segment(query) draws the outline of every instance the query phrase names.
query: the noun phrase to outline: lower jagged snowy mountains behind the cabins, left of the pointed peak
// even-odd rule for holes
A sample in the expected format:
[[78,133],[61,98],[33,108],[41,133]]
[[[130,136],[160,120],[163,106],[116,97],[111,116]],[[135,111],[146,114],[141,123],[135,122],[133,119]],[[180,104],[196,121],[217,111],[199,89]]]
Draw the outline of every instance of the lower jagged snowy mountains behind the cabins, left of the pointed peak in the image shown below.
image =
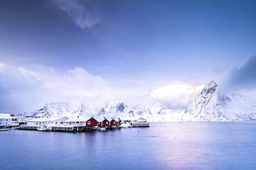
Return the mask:
[[[153,112],[152,112],[153,111]],[[147,106],[137,105],[128,107],[122,100],[115,100],[109,103],[100,103],[95,105],[77,105],[70,106],[66,102],[47,103],[42,109],[33,111],[34,116],[46,115],[48,117],[68,116],[68,117],[107,117],[122,118],[122,120],[135,120],[146,118],[149,121],[165,121],[165,117],[172,114],[172,110],[165,106]]]

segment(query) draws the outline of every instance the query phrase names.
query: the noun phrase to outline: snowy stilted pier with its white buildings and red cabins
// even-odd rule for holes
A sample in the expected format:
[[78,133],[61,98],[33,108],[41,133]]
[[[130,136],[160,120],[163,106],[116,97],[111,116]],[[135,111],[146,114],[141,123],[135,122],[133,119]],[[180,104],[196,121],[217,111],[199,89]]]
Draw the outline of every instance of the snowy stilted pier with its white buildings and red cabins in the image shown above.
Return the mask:
[[[127,127],[149,127],[149,123],[144,118],[138,120],[126,122],[129,124]],[[63,132],[84,132],[84,131],[102,131],[120,129],[122,127],[122,121],[114,118],[111,121],[104,118],[100,122],[95,118],[91,117],[88,120],[81,118],[57,117],[47,120],[33,119],[28,120],[26,125],[20,125],[17,129],[21,130],[34,130],[34,131],[63,131]]]

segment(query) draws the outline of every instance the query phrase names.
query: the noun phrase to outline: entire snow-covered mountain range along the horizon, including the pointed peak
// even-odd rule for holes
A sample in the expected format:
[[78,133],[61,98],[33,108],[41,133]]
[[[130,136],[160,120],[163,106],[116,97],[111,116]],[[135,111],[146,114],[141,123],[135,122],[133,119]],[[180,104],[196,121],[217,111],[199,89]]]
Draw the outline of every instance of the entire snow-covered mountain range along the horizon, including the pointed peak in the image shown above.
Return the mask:
[[221,94],[214,81],[210,81],[185,110],[168,109],[164,105],[128,107],[122,100],[98,105],[68,105],[66,102],[48,103],[31,114],[53,116],[95,116],[148,121],[250,121],[256,120],[255,100],[241,94]]

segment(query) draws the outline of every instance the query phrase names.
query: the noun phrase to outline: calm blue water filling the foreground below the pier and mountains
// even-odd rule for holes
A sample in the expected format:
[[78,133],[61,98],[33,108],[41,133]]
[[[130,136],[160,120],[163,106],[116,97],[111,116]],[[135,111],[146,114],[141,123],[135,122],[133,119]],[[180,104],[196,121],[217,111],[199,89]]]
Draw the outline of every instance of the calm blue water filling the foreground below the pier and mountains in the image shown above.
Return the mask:
[[0,169],[256,169],[256,123],[93,133],[1,131]]

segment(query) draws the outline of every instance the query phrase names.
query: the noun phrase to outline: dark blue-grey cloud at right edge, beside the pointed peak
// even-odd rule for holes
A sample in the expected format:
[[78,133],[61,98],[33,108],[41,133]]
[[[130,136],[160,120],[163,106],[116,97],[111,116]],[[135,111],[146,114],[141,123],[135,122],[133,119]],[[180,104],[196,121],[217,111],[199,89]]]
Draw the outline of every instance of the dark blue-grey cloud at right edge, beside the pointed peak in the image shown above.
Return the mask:
[[256,56],[252,56],[244,66],[230,73],[228,87],[235,89],[256,87]]

